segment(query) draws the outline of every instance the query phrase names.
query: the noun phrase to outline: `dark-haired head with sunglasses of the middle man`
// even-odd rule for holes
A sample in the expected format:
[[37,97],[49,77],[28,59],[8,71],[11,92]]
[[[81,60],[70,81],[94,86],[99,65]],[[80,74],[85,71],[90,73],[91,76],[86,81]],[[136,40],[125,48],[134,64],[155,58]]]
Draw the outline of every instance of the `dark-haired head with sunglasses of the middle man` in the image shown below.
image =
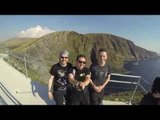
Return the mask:
[[86,62],[87,62],[87,60],[86,60],[86,56],[85,55],[78,55],[77,59],[76,59],[76,67],[77,67],[77,69],[82,70],[85,67]]

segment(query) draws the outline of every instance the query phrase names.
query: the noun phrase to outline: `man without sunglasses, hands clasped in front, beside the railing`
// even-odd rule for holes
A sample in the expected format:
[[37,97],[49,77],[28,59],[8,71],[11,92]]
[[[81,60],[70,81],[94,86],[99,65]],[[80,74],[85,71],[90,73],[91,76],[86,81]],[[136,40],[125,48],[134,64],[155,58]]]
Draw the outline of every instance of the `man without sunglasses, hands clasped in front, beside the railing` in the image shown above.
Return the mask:
[[110,67],[106,60],[107,51],[100,49],[98,51],[98,63],[90,66],[90,102],[91,105],[101,105],[104,98],[104,88],[108,84],[111,76]]

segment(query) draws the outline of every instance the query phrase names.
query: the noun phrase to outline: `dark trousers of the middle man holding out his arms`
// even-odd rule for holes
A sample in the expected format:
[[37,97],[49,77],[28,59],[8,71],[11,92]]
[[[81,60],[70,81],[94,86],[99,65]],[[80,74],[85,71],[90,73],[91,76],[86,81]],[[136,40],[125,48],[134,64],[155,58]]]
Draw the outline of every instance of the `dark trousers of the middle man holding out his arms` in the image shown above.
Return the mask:
[[90,105],[89,92],[85,91],[72,91],[71,105]]

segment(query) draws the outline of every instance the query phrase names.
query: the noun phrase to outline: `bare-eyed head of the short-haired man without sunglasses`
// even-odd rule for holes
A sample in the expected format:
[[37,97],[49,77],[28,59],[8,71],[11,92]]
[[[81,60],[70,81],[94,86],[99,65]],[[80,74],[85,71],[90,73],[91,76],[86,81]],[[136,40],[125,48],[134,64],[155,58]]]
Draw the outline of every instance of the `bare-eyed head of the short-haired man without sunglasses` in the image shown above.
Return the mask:
[[104,65],[108,58],[107,50],[105,48],[101,48],[98,51],[98,63]]

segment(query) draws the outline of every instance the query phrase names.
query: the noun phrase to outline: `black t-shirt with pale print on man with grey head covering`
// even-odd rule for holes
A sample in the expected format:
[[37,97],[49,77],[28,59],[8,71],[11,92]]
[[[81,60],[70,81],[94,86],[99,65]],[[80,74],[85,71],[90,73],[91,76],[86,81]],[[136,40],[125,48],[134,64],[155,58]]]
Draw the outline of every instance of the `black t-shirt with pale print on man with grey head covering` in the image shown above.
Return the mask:
[[50,69],[50,74],[54,76],[54,90],[66,90],[68,82],[68,73],[72,69],[72,64],[62,67],[60,63],[54,64]]

